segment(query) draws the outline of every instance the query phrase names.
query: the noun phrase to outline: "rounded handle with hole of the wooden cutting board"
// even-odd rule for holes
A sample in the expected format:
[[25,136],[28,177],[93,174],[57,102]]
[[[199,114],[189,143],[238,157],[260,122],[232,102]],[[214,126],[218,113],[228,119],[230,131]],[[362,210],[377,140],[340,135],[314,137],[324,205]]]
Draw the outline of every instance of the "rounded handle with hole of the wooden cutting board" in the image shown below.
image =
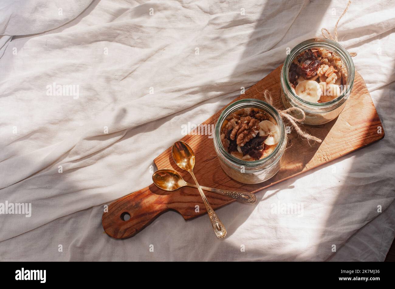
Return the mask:
[[169,195],[155,192],[156,186],[152,184],[111,203],[102,216],[104,231],[117,239],[132,237],[168,211]]

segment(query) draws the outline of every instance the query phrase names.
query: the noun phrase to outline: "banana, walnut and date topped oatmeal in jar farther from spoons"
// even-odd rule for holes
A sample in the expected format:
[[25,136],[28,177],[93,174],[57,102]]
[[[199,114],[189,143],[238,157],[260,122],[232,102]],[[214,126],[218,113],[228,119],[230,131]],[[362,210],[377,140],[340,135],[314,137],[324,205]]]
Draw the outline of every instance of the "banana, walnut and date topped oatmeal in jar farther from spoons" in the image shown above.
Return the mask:
[[335,52],[309,48],[293,59],[288,80],[292,91],[301,99],[326,103],[342,94],[347,83],[347,69]]

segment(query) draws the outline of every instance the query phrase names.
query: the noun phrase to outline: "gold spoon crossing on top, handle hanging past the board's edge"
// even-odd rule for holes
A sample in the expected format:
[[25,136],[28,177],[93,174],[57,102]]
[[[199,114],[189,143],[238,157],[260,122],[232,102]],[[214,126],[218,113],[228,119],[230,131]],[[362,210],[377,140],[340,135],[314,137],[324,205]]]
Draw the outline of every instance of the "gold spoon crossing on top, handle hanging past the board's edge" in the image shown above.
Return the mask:
[[192,175],[192,178],[194,179],[196,186],[198,187],[199,193],[201,198],[203,199],[203,203],[206,206],[207,214],[209,214],[211,224],[213,225],[213,229],[215,232],[215,235],[217,235],[218,238],[224,238],[226,236],[226,229],[216,213],[214,212],[213,208],[209,204],[209,201],[207,201],[206,196],[203,193],[203,190],[198,184],[198,180],[195,177],[194,174],[194,166],[195,166],[195,154],[194,151],[190,148],[186,142],[175,142],[173,144],[173,148],[171,149],[171,153],[173,155],[174,162],[181,168],[182,170],[186,170]]

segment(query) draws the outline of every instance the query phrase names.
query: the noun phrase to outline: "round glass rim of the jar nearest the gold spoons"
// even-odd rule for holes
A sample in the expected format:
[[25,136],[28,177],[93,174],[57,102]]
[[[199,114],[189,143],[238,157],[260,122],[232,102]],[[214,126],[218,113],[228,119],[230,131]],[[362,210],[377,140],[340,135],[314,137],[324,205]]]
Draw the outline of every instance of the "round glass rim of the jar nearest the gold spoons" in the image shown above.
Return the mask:
[[[224,146],[222,145],[220,136],[220,129],[222,127],[222,123],[224,123],[224,120],[226,117],[229,116],[232,112],[235,110],[245,108],[245,107],[254,107],[254,108],[259,108],[262,110],[265,110],[265,112],[269,113],[277,122],[277,125],[279,126],[281,135],[280,135],[280,141],[278,142],[277,146],[271,152],[267,157],[261,158],[259,160],[252,160],[252,161],[246,161],[246,160],[241,160],[239,158],[234,157],[228,151],[224,149]],[[269,110],[269,111],[268,111]],[[284,140],[285,137],[285,128],[284,128],[284,122],[282,121],[281,116],[278,114],[277,110],[271,106],[269,103],[266,103],[264,101],[261,101],[259,99],[240,99],[238,101],[235,101],[232,104],[229,104],[220,114],[217,123],[215,124],[215,129],[214,129],[214,142],[216,142],[216,146],[218,147],[220,153],[222,154],[223,157],[225,157],[229,162],[236,166],[245,166],[246,168],[253,168],[256,166],[261,166],[265,164],[268,160],[270,160],[273,156],[275,156],[278,151],[280,150],[281,142]],[[218,152],[217,152],[218,153]]]

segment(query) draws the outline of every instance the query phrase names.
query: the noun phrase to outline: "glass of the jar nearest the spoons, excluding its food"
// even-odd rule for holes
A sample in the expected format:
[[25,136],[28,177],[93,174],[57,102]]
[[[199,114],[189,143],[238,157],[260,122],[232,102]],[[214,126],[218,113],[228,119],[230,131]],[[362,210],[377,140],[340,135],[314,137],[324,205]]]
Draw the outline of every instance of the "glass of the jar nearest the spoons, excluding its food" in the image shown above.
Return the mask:
[[[274,151],[260,160],[245,161],[234,157],[224,149],[220,139],[222,124],[227,117],[236,110],[247,107],[259,108],[266,111],[275,119],[281,132],[280,140]],[[287,134],[280,115],[273,106],[258,99],[242,99],[230,104],[221,113],[214,129],[214,148],[220,165],[229,177],[241,183],[256,184],[273,177],[280,169],[280,159],[284,154],[286,144]]]

